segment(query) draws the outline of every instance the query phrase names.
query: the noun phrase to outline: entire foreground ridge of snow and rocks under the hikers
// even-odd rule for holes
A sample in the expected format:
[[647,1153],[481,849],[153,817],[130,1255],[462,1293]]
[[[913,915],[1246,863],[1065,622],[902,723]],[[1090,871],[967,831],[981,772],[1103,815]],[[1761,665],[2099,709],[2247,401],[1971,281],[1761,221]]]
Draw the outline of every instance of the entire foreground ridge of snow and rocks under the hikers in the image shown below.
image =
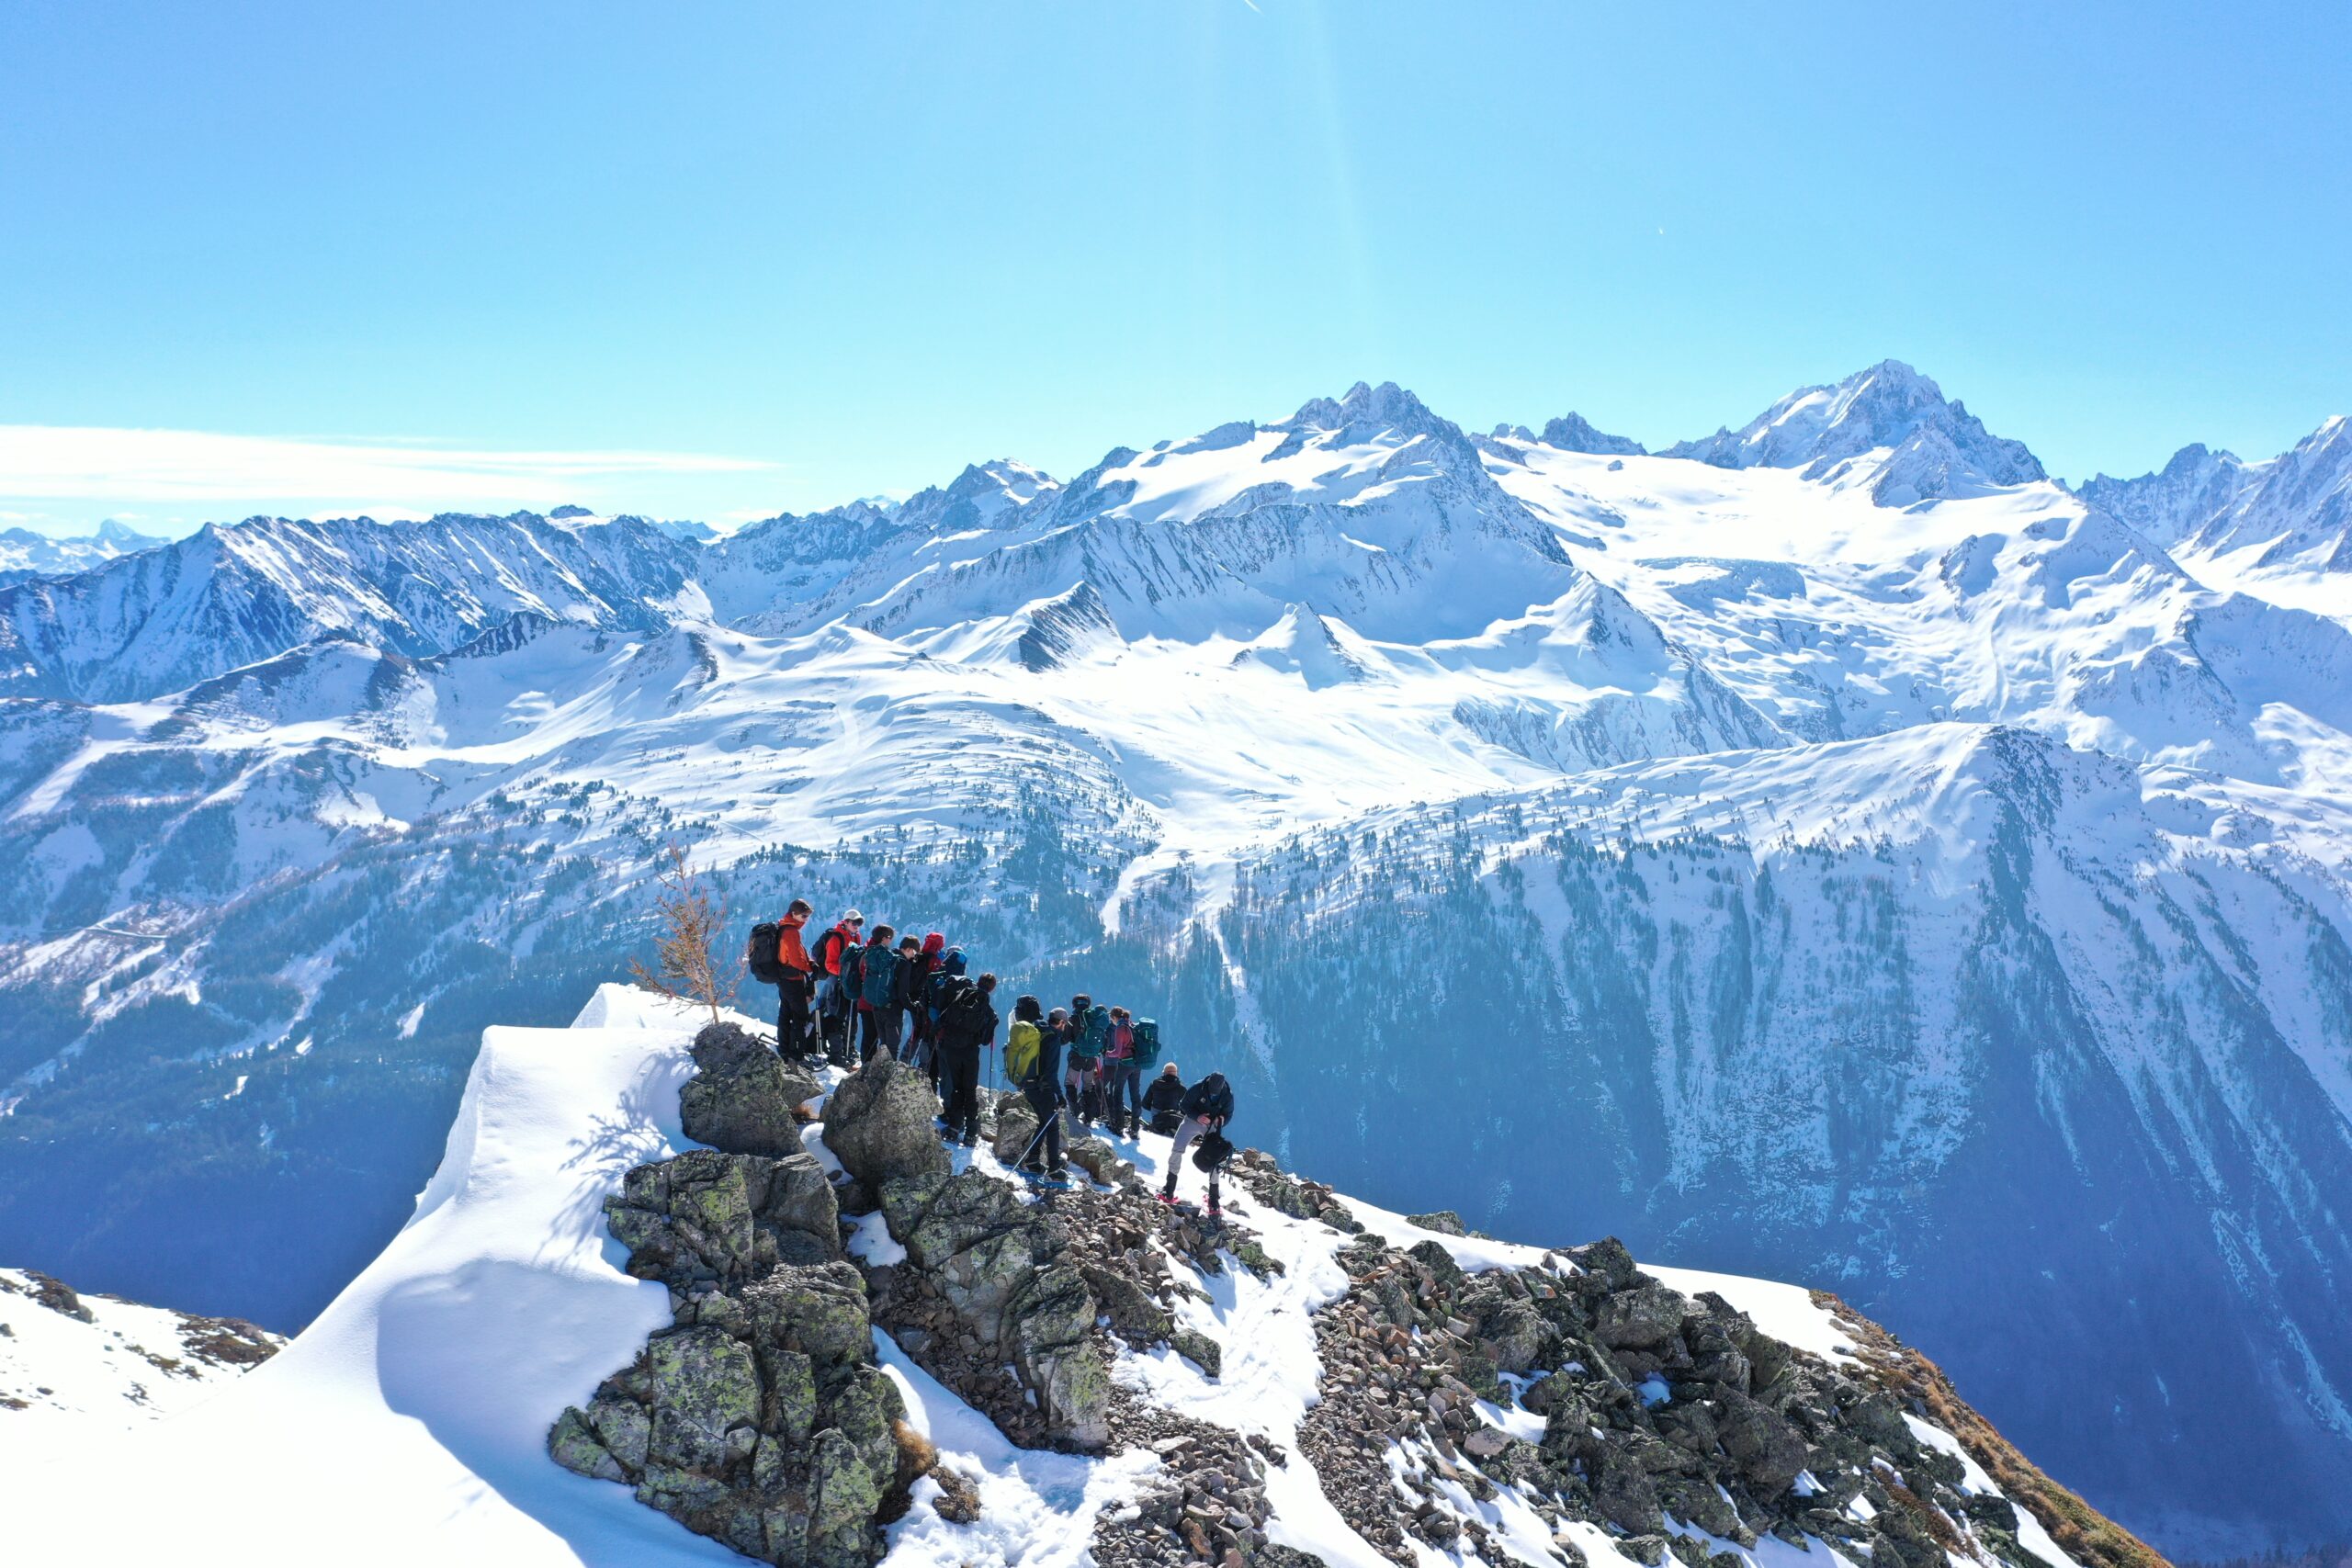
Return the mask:
[[915,1070],[804,1077],[748,1025],[607,985],[489,1030],[383,1253],[221,1399],[12,1467],[12,1549],[2157,1568],[1837,1298],[1258,1152],[1209,1222],[1148,1197],[1157,1135],[1033,1192],[1018,1095],[948,1154]]

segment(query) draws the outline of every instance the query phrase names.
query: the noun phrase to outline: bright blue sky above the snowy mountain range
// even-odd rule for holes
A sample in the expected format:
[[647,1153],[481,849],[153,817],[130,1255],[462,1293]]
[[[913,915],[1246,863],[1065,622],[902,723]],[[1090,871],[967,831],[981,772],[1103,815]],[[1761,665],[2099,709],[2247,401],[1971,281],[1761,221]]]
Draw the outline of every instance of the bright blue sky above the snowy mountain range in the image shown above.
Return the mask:
[[[0,7],[0,512],[743,517],[1395,378],[2352,411],[2352,7]],[[71,433],[59,428],[73,428]],[[247,437],[247,440],[219,440]]]

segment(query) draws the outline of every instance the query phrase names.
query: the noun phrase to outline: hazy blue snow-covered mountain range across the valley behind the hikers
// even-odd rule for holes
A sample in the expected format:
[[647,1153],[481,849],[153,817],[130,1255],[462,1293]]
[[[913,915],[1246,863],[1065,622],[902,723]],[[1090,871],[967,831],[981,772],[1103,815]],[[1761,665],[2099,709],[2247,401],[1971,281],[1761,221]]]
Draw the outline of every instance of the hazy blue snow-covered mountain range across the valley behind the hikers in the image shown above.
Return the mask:
[[[2265,541],[2328,527],[2305,449]],[[1900,364],[1656,456],[1357,386],[708,541],[263,520],[5,590],[0,1248],[303,1321],[684,842],[1247,1041],[1371,1199],[1468,1166],[1933,1331],[2166,1544],[2343,1533],[2352,607],[2197,545],[2216,463],[2074,494]]]

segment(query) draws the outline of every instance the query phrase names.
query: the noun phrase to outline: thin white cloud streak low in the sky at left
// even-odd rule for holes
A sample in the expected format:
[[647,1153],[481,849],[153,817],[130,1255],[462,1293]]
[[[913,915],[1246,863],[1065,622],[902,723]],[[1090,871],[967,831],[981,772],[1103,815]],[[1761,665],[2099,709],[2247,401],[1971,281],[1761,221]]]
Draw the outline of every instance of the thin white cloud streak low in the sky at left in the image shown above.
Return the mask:
[[614,480],[750,475],[774,468],[701,451],[485,451],[209,430],[0,425],[0,498],[96,501],[115,508],[308,503],[397,512],[546,501]]

